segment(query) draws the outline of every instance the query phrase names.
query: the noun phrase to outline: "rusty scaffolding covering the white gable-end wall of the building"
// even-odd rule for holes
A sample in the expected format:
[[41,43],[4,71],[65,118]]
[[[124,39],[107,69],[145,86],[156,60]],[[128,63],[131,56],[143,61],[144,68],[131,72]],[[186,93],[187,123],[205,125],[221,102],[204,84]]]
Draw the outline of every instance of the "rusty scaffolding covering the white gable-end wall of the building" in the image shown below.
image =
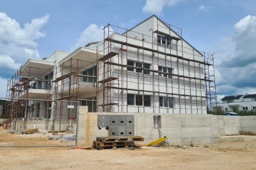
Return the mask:
[[97,46],[97,110],[207,113],[216,104],[214,55],[184,46],[182,29],[170,24],[157,20],[151,31],[104,27]]

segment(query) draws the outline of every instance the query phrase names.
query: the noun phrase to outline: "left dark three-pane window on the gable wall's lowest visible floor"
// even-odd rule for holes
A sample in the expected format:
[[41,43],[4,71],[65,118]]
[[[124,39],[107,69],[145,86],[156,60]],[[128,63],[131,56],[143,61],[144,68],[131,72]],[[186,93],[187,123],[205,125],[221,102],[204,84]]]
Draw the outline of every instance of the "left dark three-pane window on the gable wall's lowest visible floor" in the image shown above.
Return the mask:
[[127,94],[127,105],[151,106],[151,96]]

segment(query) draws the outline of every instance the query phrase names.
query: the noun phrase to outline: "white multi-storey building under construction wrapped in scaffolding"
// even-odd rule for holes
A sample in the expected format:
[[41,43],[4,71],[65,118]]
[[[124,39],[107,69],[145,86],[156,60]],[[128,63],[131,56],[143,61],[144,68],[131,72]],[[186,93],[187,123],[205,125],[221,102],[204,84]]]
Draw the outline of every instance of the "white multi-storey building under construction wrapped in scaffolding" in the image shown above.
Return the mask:
[[[216,104],[214,56],[155,15],[132,29],[108,24],[104,39],[29,59],[8,81],[8,118],[73,126],[90,112],[206,114]],[[13,123],[13,126],[15,124]]]

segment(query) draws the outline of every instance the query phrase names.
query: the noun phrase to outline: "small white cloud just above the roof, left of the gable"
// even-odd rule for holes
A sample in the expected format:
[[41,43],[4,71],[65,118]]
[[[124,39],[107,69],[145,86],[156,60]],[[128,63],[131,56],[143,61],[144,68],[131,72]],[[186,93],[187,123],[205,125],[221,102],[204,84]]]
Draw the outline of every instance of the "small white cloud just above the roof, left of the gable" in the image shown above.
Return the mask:
[[84,31],[81,33],[79,39],[76,42],[76,45],[72,46],[71,50],[76,49],[79,46],[87,45],[95,41],[102,41],[103,39],[103,27],[96,24],[90,24]]

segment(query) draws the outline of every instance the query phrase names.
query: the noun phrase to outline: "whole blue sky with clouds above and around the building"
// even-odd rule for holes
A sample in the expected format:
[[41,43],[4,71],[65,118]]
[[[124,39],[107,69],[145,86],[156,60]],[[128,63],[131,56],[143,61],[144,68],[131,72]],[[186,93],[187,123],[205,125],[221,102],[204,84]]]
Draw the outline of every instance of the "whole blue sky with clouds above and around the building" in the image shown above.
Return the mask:
[[255,6],[254,0],[0,0],[0,97],[29,58],[71,52],[100,40],[108,23],[129,29],[152,14],[181,27],[198,50],[214,53],[219,99],[256,94]]

